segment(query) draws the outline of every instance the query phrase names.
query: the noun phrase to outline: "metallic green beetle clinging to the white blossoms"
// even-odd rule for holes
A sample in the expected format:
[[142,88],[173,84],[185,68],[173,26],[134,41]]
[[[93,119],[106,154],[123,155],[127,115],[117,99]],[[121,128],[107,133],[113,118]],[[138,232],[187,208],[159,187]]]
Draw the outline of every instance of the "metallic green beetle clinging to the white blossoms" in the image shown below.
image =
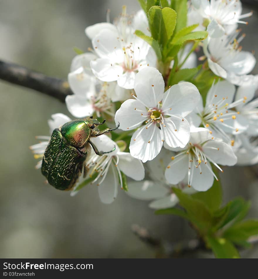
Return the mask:
[[[98,137],[115,129],[93,131],[95,126],[102,125],[92,117],[72,120],[52,132],[51,139],[42,159],[41,172],[50,185],[59,190],[70,190],[82,173],[87,158],[89,144],[97,155],[105,153],[97,149],[91,137]],[[85,169],[84,169],[85,172]],[[84,173],[85,174],[85,173]]]

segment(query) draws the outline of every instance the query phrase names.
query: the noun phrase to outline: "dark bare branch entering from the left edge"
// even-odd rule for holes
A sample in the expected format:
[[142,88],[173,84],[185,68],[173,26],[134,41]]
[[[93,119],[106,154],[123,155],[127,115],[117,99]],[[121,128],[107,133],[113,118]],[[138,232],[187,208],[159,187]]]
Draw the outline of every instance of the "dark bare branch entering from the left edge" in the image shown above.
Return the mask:
[[29,70],[28,68],[1,60],[0,79],[34,89],[57,98],[61,102],[65,102],[65,97],[67,95],[73,94],[66,80],[52,78],[42,73]]

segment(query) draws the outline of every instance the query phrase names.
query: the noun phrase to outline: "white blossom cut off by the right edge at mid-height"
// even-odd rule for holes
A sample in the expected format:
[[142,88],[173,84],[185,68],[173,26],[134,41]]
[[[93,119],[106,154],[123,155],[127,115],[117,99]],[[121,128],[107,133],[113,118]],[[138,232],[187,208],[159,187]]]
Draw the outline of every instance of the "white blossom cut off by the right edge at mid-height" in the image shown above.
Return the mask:
[[[236,109],[247,120],[249,128],[246,133],[249,136],[258,136],[258,98],[252,100],[257,87],[258,82],[249,86],[240,86],[236,93],[236,100],[240,100]],[[244,101],[241,102],[243,99]]]

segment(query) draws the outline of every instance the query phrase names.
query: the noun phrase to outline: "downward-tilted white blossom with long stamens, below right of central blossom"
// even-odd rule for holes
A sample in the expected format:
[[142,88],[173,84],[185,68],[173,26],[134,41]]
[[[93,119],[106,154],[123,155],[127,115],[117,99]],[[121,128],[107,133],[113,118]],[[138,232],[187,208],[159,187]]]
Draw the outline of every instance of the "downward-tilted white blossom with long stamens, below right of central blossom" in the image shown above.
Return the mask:
[[188,185],[197,191],[207,191],[211,188],[213,177],[218,180],[210,162],[220,171],[222,169],[218,164],[233,166],[237,162],[231,146],[222,141],[212,140],[205,128],[193,129],[189,144],[181,150],[172,157],[165,177],[172,184],[177,184],[187,177]]

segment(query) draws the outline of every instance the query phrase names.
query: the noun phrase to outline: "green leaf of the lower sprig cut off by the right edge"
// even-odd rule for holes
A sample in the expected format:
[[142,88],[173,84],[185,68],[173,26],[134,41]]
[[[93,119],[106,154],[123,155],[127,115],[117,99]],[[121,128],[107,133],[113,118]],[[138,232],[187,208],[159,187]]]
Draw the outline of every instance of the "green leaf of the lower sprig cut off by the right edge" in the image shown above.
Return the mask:
[[255,219],[236,223],[223,233],[223,237],[228,238],[235,243],[245,241],[250,236],[254,235],[258,235],[258,220]]

